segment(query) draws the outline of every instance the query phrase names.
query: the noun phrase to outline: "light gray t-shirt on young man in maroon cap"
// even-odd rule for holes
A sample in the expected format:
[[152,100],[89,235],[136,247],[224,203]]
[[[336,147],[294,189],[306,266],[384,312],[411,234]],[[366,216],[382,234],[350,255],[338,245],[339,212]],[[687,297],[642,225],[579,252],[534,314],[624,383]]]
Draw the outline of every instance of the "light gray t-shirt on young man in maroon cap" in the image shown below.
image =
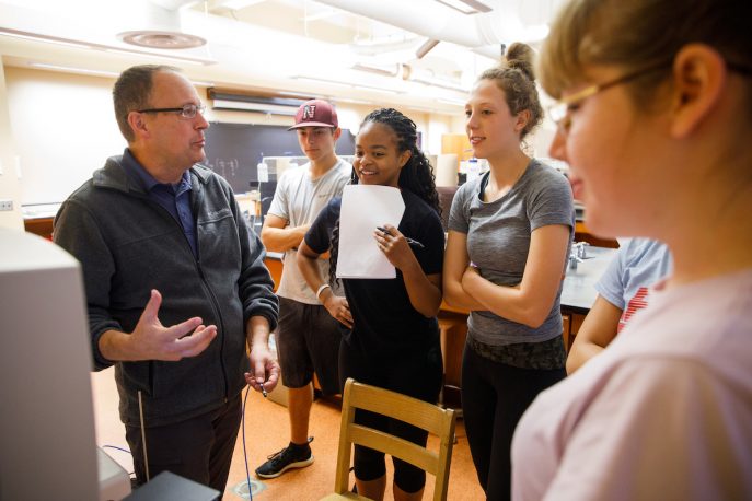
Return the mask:
[[[290,226],[311,224],[333,197],[342,196],[351,172],[352,165],[342,159],[316,180],[311,179],[310,162],[300,167],[288,168],[277,182],[268,213],[286,219]],[[315,291],[308,287],[298,269],[298,252],[285,252],[284,261],[277,295],[301,303],[320,304]],[[316,264],[321,276],[328,277],[328,259],[316,259]]]

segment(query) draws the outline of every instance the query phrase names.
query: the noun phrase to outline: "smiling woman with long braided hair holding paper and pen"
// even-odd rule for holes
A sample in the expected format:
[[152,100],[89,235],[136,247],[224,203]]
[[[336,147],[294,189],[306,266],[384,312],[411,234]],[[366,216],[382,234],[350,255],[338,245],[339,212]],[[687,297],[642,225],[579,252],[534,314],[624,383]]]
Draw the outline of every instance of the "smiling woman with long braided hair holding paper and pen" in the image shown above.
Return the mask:
[[[356,138],[352,183],[400,188],[405,212],[397,228],[374,229],[378,245],[396,268],[393,279],[343,279],[338,296],[321,276],[315,260],[331,249],[329,281],[339,253],[340,198],[322,210],[298,249],[298,266],[319,300],[340,322],[339,377],[347,377],[436,403],[442,362],[436,315],[441,305],[444,234],[433,173],[417,145],[413,120],[392,108],[370,113]],[[382,231],[383,230],[383,231]],[[420,242],[412,246],[407,238]],[[356,421],[426,444],[427,433],[401,421],[357,413]],[[423,497],[426,474],[395,457],[394,499]],[[358,493],[383,499],[384,455],[355,447]]]

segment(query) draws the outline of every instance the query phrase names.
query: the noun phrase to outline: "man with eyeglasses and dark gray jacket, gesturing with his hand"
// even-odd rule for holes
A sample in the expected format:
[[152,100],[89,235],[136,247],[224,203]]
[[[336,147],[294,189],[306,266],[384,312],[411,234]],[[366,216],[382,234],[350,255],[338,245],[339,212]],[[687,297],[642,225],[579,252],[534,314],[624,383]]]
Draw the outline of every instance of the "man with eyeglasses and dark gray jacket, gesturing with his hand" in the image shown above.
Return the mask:
[[130,68],[113,98],[128,147],[66,200],[55,241],[81,263],[94,370],[115,366],[137,482],[169,470],[223,492],[241,391],[279,377],[265,249],[199,165],[209,124],[177,69]]

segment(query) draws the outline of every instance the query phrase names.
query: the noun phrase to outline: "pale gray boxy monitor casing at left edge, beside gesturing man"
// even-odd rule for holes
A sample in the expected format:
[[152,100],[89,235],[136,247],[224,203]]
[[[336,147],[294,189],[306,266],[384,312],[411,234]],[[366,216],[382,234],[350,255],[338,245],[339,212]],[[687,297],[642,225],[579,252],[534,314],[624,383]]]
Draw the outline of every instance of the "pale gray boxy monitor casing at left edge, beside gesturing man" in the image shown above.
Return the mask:
[[99,499],[79,264],[0,229],[0,499]]

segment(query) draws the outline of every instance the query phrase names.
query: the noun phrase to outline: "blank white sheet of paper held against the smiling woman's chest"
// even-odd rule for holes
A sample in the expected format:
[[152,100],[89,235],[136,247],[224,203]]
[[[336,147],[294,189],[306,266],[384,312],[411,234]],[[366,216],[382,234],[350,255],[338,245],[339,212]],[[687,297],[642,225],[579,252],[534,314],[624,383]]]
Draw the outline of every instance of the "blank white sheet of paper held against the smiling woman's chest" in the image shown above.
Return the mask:
[[396,270],[379,249],[377,226],[397,226],[405,212],[400,189],[391,186],[345,186],[339,213],[338,278],[395,278]]

